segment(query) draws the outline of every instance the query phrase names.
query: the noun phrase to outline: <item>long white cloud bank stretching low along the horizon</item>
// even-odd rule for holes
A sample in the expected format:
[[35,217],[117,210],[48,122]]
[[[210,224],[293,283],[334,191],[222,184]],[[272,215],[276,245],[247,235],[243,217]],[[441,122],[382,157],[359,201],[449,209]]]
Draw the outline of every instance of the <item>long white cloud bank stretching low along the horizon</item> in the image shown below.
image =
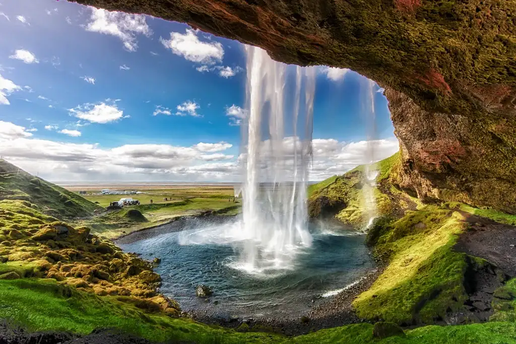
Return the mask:
[[[47,130],[57,128],[45,126]],[[72,131],[72,130],[70,130]],[[66,132],[65,132],[66,133]],[[28,171],[40,171],[54,181],[223,181],[240,180],[241,158],[224,154],[227,142],[200,142],[191,146],[126,144],[104,149],[99,144],[74,144],[32,138],[22,126],[0,122],[0,155]],[[69,134],[67,134],[69,135]],[[268,144],[262,142],[264,157]],[[374,148],[374,160],[398,150],[395,138],[341,142],[314,139],[310,180],[320,180],[368,162],[366,152]],[[287,160],[292,162],[294,138],[283,140]],[[297,145],[298,149],[300,145]],[[285,166],[292,166],[286,161]],[[266,174],[263,174],[264,176]]]

